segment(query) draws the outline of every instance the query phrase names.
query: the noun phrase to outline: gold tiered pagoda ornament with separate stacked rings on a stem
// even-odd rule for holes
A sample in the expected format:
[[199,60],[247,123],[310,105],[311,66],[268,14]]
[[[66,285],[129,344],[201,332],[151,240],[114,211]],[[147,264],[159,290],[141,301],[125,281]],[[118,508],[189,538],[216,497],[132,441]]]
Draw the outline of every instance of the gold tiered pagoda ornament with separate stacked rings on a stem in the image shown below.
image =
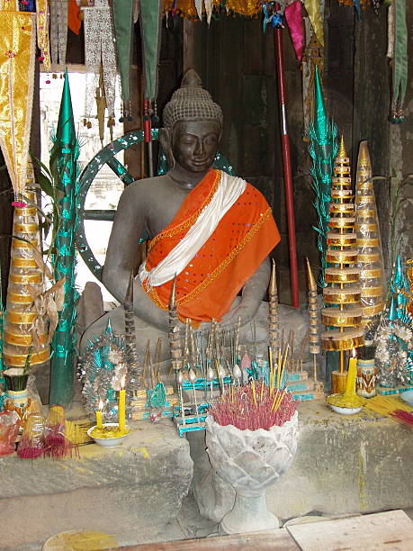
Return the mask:
[[321,321],[328,330],[321,334],[321,342],[326,350],[340,351],[340,373],[343,373],[344,351],[364,344],[355,205],[343,138],[334,166],[329,214],[327,286],[323,289],[326,307],[321,311]]

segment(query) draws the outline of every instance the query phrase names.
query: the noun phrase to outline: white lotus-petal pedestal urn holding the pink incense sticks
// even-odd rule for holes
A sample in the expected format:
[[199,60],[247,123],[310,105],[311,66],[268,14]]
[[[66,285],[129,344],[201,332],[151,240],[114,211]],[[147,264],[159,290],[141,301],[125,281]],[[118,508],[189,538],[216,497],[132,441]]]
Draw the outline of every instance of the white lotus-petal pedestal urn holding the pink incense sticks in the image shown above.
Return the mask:
[[234,507],[220,523],[226,534],[279,528],[266,508],[265,489],[292,463],[298,442],[298,413],[269,430],[240,430],[206,419],[206,445],[212,467],[236,491]]

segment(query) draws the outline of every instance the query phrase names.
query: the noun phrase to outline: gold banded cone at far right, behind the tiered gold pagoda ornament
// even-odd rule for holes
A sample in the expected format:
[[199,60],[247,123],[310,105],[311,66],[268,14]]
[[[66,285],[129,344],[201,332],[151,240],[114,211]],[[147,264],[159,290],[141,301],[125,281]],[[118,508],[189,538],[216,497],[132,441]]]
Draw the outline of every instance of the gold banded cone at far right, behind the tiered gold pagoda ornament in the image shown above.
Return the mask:
[[[372,164],[367,141],[360,142],[355,180],[355,232],[357,267],[366,339],[373,339],[375,321],[384,307],[382,240],[373,189]],[[374,277],[372,277],[374,276]]]

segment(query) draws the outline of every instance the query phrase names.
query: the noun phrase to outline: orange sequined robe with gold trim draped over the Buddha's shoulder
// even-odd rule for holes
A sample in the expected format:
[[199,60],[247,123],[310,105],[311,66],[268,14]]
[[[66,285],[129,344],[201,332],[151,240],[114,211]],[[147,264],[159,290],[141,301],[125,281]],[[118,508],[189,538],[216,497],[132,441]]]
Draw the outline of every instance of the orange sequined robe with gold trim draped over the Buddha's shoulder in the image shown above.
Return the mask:
[[[220,171],[210,169],[186,196],[165,230],[148,247],[149,271],[175,248],[196,221],[220,184]],[[238,292],[256,272],[265,257],[280,241],[271,208],[250,184],[193,259],[176,277],[176,303],[179,316],[193,321],[220,321],[229,311]],[[172,281],[147,288],[157,305],[167,310]]]

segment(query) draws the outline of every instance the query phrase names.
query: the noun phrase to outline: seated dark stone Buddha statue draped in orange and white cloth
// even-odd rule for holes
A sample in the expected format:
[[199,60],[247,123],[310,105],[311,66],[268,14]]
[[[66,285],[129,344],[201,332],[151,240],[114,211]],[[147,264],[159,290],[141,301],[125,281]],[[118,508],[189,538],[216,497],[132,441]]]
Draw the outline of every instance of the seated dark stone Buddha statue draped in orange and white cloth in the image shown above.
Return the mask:
[[[212,319],[229,327],[240,318],[251,340],[250,321],[256,320],[256,338],[265,339],[267,310],[262,301],[270,277],[268,255],[280,236],[256,188],[211,168],[222,122],[220,106],[202,88],[195,71],[188,71],[166,104],[165,128],[159,131],[169,171],[136,181],[121,194],[103,284],[124,301],[139,237],[146,230],[148,257],[139,266],[133,288],[140,358],[148,339],[154,346],[158,337],[163,337],[162,357],[168,357],[167,306],[175,276],[181,321],[190,318],[193,327],[203,331]],[[119,307],[85,331],[84,346],[103,332],[108,318],[115,332],[124,331]]]

